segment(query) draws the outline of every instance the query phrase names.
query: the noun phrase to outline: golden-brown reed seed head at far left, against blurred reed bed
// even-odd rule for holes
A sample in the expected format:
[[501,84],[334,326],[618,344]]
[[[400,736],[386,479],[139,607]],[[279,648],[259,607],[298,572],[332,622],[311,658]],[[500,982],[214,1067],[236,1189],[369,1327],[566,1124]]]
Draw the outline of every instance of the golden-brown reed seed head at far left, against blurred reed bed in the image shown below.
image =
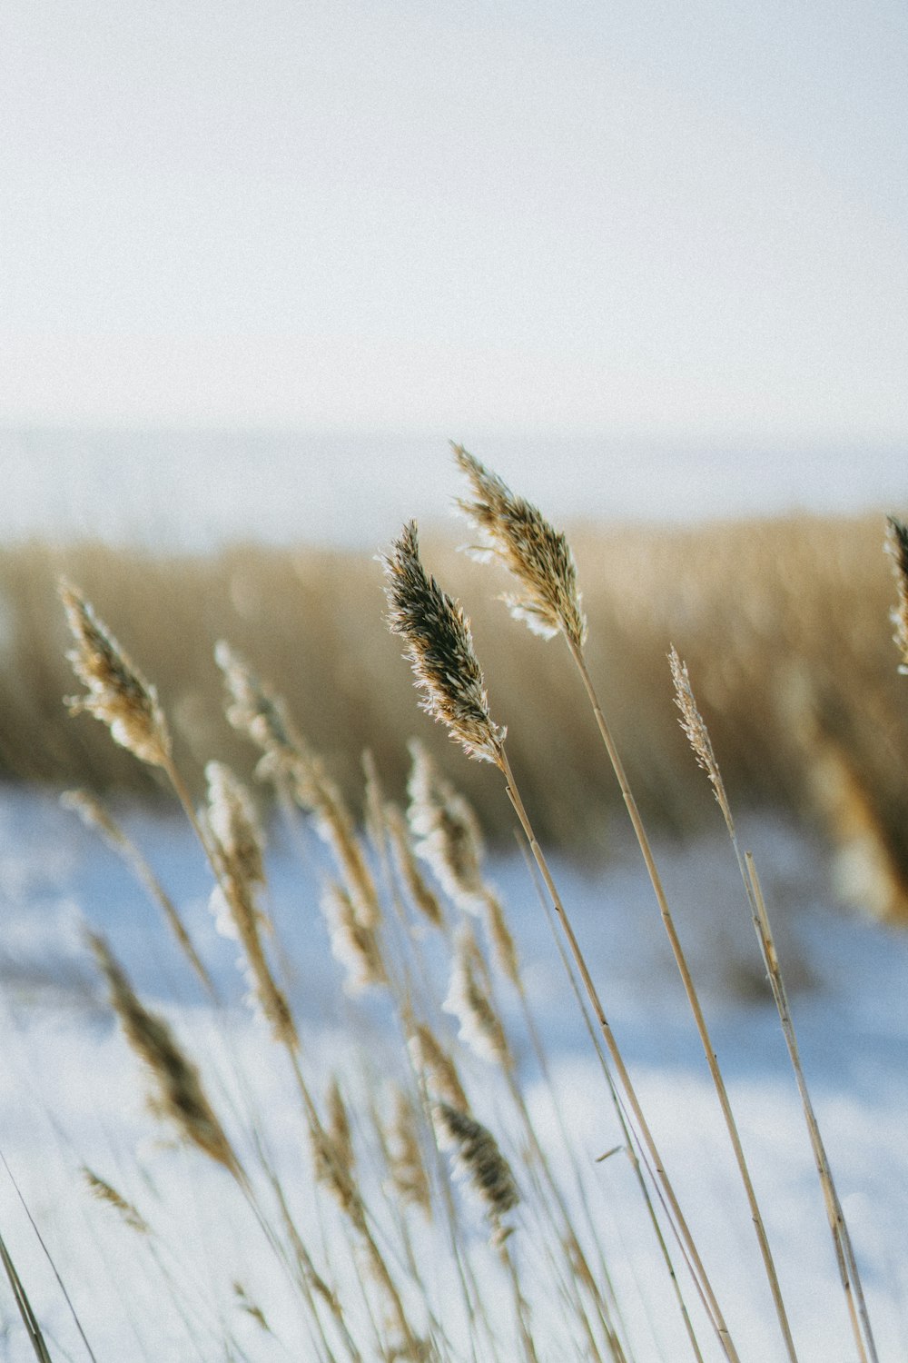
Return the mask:
[[71,714],[83,710],[110,729],[114,743],[140,762],[166,766],[170,759],[170,731],[158,692],[129,661],[93,607],[72,583],[60,582],[60,600],[75,647],[67,653],[72,671],[86,694],[67,703]]

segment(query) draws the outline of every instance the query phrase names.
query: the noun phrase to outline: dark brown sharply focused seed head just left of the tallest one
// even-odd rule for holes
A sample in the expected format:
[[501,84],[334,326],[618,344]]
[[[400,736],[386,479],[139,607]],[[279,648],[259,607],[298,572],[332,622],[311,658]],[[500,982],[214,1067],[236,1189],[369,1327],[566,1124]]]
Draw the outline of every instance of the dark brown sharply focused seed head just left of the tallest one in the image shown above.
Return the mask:
[[388,626],[406,643],[422,709],[447,725],[467,755],[501,766],[505,731],[493,724],[463,608],[430,578],[411,521],[384,559]]

